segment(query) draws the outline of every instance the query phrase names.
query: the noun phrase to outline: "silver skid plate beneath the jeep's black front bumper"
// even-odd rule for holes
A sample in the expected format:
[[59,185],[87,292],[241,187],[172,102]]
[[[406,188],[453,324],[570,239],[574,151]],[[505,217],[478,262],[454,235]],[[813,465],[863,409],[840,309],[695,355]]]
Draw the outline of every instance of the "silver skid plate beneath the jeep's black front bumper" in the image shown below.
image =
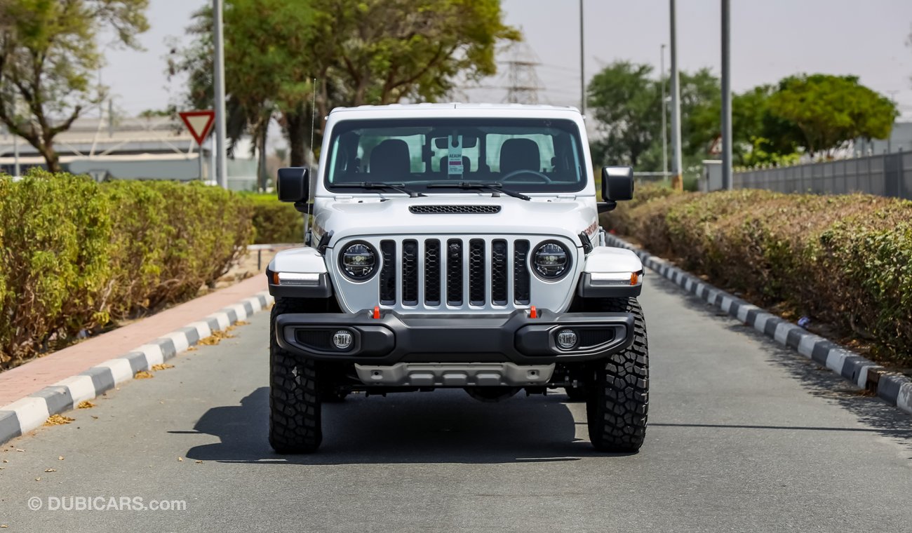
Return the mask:
[[529,386],[544,385],[554,364],[514,363],[397,363],[388,366],[356,364],[364,384],[395,386]]

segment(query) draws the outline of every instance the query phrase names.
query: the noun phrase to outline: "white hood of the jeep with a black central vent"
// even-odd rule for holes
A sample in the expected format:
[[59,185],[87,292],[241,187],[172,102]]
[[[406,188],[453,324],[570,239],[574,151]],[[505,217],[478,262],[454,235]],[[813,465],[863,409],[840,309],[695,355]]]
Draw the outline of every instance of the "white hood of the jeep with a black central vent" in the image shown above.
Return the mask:
[[550,234],[581,245],[580,231],[591,236],[598,226],[596,202],[573,195],[520,200],[483,192],[381,198],[316,199],[314,241],[327,231],[333,232],[329,246],[367,235]]

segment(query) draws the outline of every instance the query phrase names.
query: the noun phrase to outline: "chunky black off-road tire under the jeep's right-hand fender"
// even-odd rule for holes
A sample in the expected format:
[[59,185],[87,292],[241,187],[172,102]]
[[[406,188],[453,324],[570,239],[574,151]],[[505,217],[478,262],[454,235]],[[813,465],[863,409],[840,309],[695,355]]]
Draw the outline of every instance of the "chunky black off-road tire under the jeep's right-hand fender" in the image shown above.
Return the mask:
[[649,407],[649,350],[646,320],[636,298],[606,299],[601,310],[633,313],[633,344],[595,364],[586,398],[592,446],[603,452],[632,453],[643,446]]

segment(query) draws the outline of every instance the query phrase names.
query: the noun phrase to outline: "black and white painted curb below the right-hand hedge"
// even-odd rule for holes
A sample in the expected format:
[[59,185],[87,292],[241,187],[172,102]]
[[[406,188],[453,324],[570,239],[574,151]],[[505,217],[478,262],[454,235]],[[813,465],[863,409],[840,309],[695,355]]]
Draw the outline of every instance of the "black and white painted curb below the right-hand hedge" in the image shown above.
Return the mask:
[[673,267],[661,258],[642,251],[614,235],[606,235],[611,246],[626,248],[639,256],[640,261],[685,291],[710,302],[725,313],[737,318],[777,343],[797,350],[817,364],[822,364],[855,385],[876,392],[886,403],[896,405],[912,414],[912,380],[905,375],[887,372],[886,368],[802,327],[721,291],[697,276]]

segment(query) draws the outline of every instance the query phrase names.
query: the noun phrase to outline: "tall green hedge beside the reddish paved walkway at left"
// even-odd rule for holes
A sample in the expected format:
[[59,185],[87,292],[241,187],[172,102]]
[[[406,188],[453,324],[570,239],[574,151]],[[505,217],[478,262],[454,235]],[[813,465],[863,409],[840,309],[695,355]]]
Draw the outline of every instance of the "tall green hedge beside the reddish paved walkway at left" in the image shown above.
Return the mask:
[[244,253],[252,212],[198,183],[0,177],[0,369],[192,298]]

